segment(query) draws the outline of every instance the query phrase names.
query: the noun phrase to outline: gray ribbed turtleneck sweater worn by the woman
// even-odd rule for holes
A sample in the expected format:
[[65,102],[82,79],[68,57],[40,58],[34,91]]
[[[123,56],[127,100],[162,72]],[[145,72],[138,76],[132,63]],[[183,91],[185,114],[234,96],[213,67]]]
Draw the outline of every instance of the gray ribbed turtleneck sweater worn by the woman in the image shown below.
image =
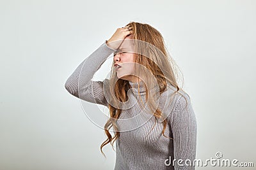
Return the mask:
[[[93,75],[100,68],[103,62],[108,59],[111,53],[115,52],[112,48],[106,45],[106,41],[95,50],[89,57],[87,57],[77,69],[72,73],[65,83],[65,89],[73,96],[79,97],[84,101],[90,103],[108,105],[106,96],[104,96],[103,82],[92,81]],[[79,80],[79,73],[83,67],[83,76]],[[82,74],[82,73],[81,73]],[[82,79],[83,78],[83,79]],[[79,81],[79,82],[78,82]],[[108,82],[105,79],[104,82]],[[142,81],[141,81],[142,82]],[[79,88],[78,88],[79,83]],[[93,83],[93,85],[92,85]],[[142,83],[132,83],[132,93],[128,93],[131,99],[142,99],[145,101],[145,89]],[[140,86],[140,97],[138,96],[138,87]],[[81,88],[82,87],[82,88]],[[131,131],[120,132],[120,138],[116,140],[116,164],[115,170],[121,169],[195,169],[195,166],[186,166],[188,160],[193,160],[196,157],[196,117],[191,106],[189,95],[184,91],[180,94],[175,94],[173,102],[170,107],[164,106],[170,101],[170,96],[173,94],[174,88],[172,85],[161,94],[159,98],[159,108],[163,113],[168,115],[168,125],[164,131],[166,138],[161,134],[163,124],[156,122],[152,116],[148,121],[138,127],[138,122],[143,118],[135,117],[136,120],[125,121],[120,123],[120,127],[125,129],[132,129]],[[185,109],[186,100],[188,101],[188,109]],[[132,108],[123,110],[121,118],[130,118],[140,113],[140,107],[136,103]],[[143,120],[142,120],[143,121]],[[137,125],[138,128],[134,129]],[[154,129],[152,127],[154,126]],[[152,131],[150,132],[150,130]],[[148,134],[148,132],[150,132]],[[148,136],[146,136],[148,134]],[[167,162],[165,161],[166,159]],[[172,160],[180,160],[180,166],[175,162],[174,166]],[[166,162],[166,164],[164,163]],[[170,164],[170,166],[168,166]],[[181,166],[181,165],[184,166]]]

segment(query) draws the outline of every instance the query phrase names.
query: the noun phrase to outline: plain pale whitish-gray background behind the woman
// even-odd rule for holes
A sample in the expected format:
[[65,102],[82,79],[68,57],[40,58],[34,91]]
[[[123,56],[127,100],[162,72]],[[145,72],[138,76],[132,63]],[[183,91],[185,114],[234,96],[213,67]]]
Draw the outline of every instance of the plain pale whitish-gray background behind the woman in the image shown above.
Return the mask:
[[0,169],[114,168],[111,146],[107,159],[99,150],[104,131],[64,84],[130,21],[160,31],[184,74],[198,122],[196,159],[221,152],[256,166],[255,17],[253,0],[1,1]]

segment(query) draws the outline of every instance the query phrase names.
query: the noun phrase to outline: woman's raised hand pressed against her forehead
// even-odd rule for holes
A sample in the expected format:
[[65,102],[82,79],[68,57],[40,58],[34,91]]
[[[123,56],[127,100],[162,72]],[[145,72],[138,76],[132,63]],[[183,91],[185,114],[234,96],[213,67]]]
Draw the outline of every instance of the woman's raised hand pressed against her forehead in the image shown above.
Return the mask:
[[129,27],[128,25],[122,28],[118,28],[116,29],[116,32],[113,34],[113,36],[111,36],[111,38],[108,39],[108,41],[106,41],[106,44],[110,48],[116,50],[121,45],[124,38],[126,36],[129,36],[130,34],[133,34],[133,31],[131,30],[131,27]]

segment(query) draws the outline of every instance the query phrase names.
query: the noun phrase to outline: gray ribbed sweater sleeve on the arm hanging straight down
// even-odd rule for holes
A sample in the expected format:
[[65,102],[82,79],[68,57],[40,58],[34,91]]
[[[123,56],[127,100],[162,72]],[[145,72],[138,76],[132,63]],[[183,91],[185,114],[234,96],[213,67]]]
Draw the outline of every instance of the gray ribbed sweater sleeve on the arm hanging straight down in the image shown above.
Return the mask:
[[[183,94],[175,104],[172,115],[173,152],[175,170],[194,170],[196,159],[196,117],[188,94]],[[187,103],[188,102],[188,106]],[[179,162],[179,159],[180,162]],[[189,159],[189,160],[187,160]],[[191,162],[191,166],[189,163]]]

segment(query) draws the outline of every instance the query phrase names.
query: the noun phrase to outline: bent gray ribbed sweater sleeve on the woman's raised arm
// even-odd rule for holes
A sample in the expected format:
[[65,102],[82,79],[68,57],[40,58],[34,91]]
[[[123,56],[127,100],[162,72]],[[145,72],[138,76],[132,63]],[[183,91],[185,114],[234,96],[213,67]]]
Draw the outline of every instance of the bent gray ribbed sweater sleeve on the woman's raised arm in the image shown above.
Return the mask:
[[[84,59],[68,77],[65,83],[65,89],[73,96],[83,99],[84,101],[108,106],[103,92],[103,81],[92,81],[92,78],[113,52],[115,52],[115,50],[110,48],[105,40],[104,43],[102,43],[95,52]],[[104,81],[108,81],[108,79]]]

